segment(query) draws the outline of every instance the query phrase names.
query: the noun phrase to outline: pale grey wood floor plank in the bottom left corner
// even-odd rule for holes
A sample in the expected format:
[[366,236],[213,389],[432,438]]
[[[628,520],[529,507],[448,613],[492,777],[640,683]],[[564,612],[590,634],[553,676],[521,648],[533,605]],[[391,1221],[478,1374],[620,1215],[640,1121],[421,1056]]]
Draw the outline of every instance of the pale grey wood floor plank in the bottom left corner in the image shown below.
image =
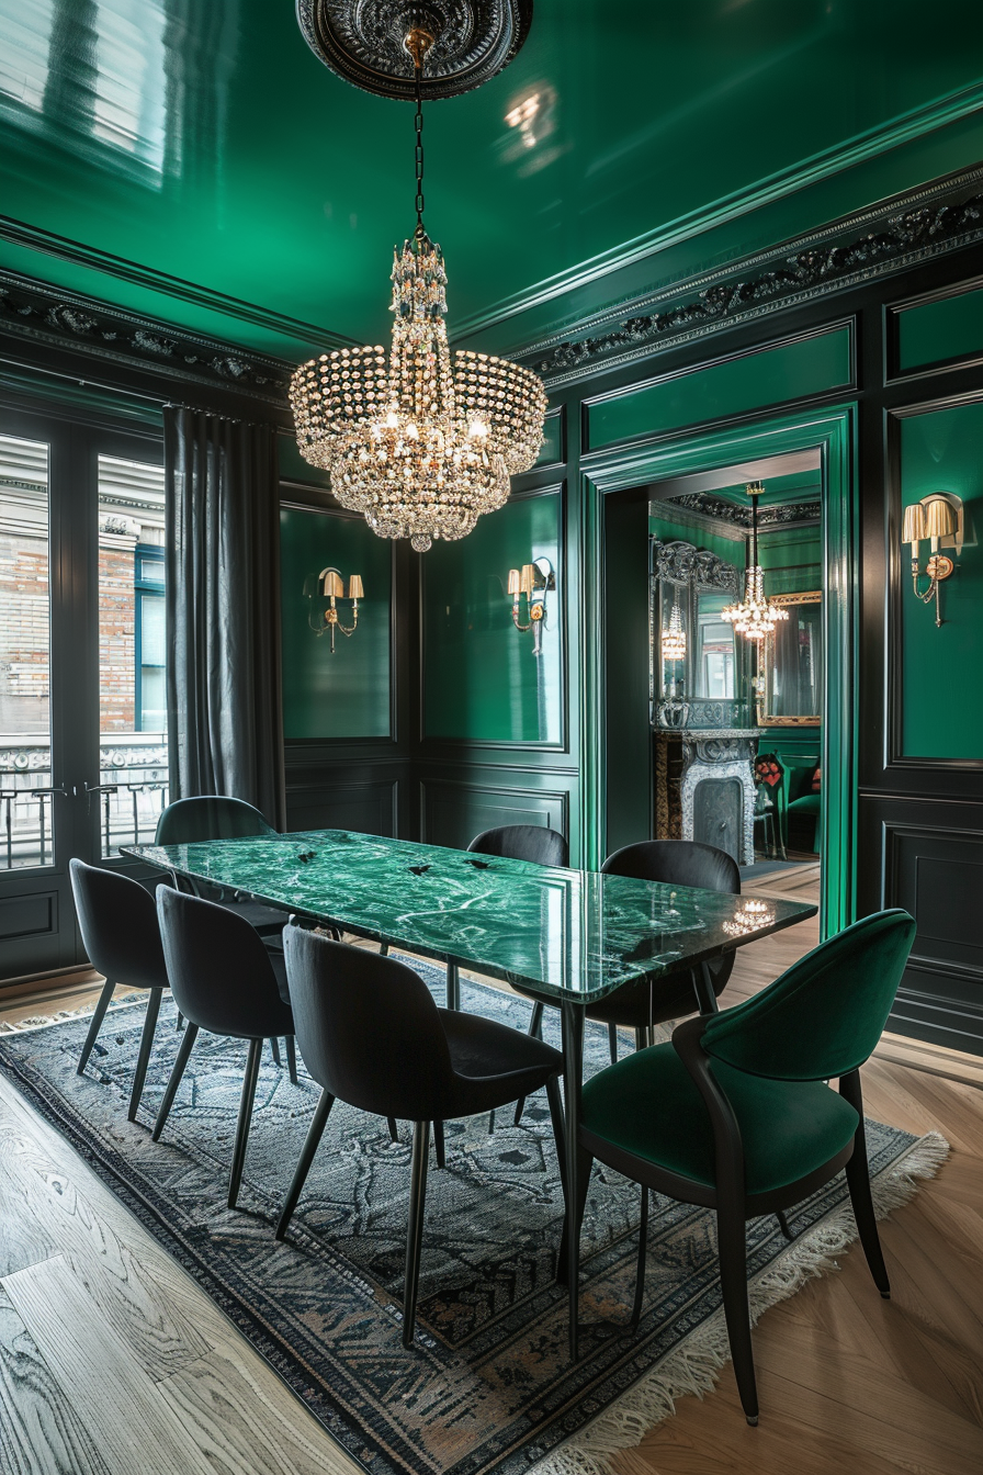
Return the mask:
[[1,1286],[0,1468],[4,1475],[109,1475],[96,1441]]

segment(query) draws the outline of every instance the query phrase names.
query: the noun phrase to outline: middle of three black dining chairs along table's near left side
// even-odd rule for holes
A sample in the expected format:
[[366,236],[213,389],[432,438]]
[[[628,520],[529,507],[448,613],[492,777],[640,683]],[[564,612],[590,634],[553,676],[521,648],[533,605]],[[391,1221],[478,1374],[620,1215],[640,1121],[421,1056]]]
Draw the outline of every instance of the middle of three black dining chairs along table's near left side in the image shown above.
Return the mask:
[[228,1207],[234,1208],[246,1161],[262,1043],[279,1034],[293,1035],[293,1015],[281,997],[286,978],[281,985],[274,968],[276,954],[262,945],[256,929],[215,901],[161,886],[158,919],[171,991],[187,1027],[153,1124],[153,1140],[158,1142],[164,1131],[197,1031],[248,1040],[228,1179]]

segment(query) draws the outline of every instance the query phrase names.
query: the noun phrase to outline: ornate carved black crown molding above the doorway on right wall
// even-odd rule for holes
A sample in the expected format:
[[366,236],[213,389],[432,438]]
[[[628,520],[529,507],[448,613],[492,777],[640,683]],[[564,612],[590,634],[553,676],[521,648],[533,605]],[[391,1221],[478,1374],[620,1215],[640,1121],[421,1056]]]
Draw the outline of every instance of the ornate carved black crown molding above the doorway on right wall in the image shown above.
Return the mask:
[[[595,323],[612,326],[595,336],[548,339],[514,357],[542,375],[548,388],[559,388],[598,369],[616,369],[669,345],[678,347],[721,327],[809,302],[983,240],[980,180],[983,170],[974,168],[909,192],[822,232],[637,298],[631,316],[620,322],[615,323],[615,313],[609,310]],[[644,310],[663,304],[663,311]]]

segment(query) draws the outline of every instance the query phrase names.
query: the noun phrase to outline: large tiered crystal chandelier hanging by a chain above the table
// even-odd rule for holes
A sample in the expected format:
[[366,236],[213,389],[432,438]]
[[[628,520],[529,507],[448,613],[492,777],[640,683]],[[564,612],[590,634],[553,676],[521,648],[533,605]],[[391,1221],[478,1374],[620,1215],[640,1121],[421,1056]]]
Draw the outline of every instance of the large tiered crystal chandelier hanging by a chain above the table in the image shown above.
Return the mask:
[[392,347],[339,348],[290,381],[301,454],[332,475],[343,507],[383,538],[463,538],[508,499],[542,444],[547,394],[529,369],[447,342],[447,273],[423,226],[423,59],[432,37],[413,30],[417,227],[392,267]]

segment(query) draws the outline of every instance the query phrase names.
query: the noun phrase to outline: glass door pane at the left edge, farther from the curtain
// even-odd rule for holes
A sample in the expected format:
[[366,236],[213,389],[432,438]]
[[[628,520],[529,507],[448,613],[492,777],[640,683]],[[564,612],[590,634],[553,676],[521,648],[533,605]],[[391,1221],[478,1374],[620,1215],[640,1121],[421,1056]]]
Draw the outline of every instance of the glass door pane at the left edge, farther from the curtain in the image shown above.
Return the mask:
[[0,435],[0,870],[50,866],[47,445]]

